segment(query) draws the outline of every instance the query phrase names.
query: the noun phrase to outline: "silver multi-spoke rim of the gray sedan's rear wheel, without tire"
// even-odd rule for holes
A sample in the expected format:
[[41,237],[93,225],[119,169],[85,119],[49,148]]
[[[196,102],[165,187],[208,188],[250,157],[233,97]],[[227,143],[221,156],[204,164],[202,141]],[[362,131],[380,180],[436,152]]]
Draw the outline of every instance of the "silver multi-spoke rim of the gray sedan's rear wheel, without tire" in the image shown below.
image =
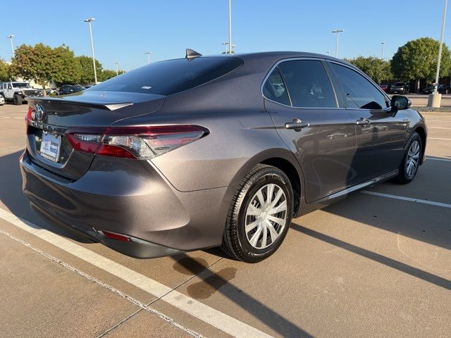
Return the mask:
[[278,239],[287,222],[287,198],[277,184],[266,184],[250,199],[245,234],[255,249],[265,249]]

